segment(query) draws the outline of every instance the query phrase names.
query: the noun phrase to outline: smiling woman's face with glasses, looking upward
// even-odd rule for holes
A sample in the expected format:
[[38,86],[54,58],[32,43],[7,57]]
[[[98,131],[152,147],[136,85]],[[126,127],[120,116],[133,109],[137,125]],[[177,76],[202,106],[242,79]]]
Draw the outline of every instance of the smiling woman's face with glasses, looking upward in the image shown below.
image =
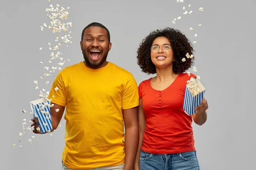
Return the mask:
[[151,47],[151,61],[157,68],[165,68],[172,65],[173,59],[173,51],[168,38],[157,37]]

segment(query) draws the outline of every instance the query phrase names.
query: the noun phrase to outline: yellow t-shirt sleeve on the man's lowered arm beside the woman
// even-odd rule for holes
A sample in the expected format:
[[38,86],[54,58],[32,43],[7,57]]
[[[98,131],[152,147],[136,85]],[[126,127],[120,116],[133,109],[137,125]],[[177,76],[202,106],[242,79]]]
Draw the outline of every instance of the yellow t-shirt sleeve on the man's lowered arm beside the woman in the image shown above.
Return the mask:
[[134,108],[138,105],[139,95],[137,82],[133,75],[130,74],[122,91],[122,109]]

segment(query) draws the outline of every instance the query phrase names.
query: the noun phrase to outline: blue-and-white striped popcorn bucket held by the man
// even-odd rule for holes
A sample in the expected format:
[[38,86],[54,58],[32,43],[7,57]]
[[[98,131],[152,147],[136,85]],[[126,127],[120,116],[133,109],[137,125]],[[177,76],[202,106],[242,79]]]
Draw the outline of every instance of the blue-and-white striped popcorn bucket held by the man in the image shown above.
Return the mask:
[[49,101],[43,98],[30,102],[33,116],[38,120],[36,125],[40,126],[42,133],[45,133],[48,130],[52,130],[52,119],[48,105]]

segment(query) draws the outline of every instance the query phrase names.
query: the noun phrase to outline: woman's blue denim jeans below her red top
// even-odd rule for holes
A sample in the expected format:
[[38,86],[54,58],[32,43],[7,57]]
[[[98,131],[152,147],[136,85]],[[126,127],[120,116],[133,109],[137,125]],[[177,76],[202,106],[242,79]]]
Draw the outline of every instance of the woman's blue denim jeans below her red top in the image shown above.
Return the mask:
[[140,170],[200,170],[195,151],[153,154],[140,151]]

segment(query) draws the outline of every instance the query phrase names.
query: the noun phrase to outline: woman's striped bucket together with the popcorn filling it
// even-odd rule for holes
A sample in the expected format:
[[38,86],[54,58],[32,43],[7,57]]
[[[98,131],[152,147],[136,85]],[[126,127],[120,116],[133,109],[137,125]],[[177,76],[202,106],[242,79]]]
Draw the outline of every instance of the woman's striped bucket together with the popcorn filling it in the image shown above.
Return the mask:
[[190,116],[196,113],[195,107],[201,104],[204,98],[204,92],[205,88],[199,79],[191,77],[190,80],[187,81],[183,100],[183,109],[186,114]]

